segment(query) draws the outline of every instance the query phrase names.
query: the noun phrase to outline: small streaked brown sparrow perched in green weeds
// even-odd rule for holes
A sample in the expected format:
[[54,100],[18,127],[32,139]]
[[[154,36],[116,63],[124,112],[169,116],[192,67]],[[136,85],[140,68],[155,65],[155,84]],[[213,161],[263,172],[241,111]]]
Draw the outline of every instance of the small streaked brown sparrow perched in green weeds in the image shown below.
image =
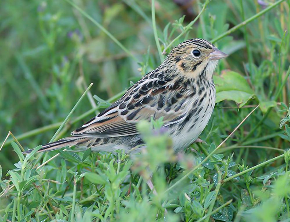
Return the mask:
[[75,146],[79,150],[121,149],[130,153],[144,144],[138,122],[150,121],[152,117],[163,117],[163,127],[175,152],[186,149],[209,122],[216,97],[213,73],[218,60],[227,56],[201,38],[179,43],[156,69],[128,88],[118,101],[71,136],[42,145],[38,152]]

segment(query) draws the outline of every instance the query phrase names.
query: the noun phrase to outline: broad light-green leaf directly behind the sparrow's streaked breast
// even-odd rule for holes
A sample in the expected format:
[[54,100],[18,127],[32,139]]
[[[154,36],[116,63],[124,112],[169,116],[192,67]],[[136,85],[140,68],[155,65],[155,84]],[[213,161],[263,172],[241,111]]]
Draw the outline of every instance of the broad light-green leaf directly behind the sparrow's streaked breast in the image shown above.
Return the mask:
[[242,107],[255,95],[246,79],[239,73],[225,71],[213,78],[217,92],[216,103],[227,99],[235,101]]

